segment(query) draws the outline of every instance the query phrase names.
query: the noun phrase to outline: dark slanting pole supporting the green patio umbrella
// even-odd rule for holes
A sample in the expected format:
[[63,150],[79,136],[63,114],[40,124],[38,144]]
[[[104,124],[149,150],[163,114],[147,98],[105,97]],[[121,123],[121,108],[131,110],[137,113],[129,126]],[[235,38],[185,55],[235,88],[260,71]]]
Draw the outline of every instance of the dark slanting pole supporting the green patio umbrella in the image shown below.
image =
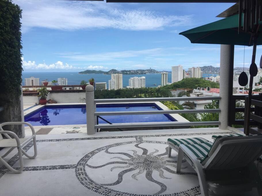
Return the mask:
[[[256,51],[257,51],[257,35],[254,36],[254,44],[253,44],[253,53],[252,53],[252,63],[255,63],[256,59]],[[249,73],[250,74],[250,73]],[[253,76],[250,75],[249,81],[249,90],[248,90],[248,103],[246,108],[246,135],[249,135],[249,123],[250,123],[250,112],[251,112],[251,99],[252,99],[252,88],[253,88]]]

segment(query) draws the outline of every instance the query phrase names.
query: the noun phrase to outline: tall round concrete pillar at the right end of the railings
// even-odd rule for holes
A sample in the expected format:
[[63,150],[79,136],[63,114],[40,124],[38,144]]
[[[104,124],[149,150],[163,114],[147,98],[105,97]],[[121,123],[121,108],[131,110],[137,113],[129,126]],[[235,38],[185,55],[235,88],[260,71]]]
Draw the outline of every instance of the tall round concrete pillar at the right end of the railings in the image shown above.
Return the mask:
[[[232,59],[233,50],[233,59]],[[230,64],[234,62],[234,46],[221,45],[220,47],[220,83],[219,83],[219,129],[227,129],[228,125],[228,102],[229,102],[229,86],[230,86]]]

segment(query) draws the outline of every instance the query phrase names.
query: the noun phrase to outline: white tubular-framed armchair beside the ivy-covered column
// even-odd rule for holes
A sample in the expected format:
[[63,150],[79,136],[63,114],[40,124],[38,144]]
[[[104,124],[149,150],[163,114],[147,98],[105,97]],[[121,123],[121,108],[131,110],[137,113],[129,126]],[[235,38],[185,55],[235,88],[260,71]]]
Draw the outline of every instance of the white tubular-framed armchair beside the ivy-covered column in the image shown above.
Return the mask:
[[[18,136],[12,132],[12,131],[4,131],[3,126],[5,125],[28,125],[31,130],[32,130],[32,136],[28,138],[18,138]],[[3,139],[2,135],[3,134],[7,139]],[[9,135],[14,137],[12,139]],[[22,147],[30,140],[33,140],[34,144],[34,155],[29,156],[23,149]],[[21,173],[24,169],[24,163],[23,163],[23,158],[22,155],[24,154],[30,159],[34,159],[37,156],[37,145],[36,145],[36,137],[35,137],[35,129],[30,123],[26,122],[7,122],[7,123],[2,123],[0,124],[0,148],[10,148],[3,156],[0,156],[0,162],[7,167],[10,171],[14,173]],[[20,169],[16,170],[12,168],[3,158],[5,158],[12,150],[17,148],[18,150],[18,156],[19,156],[19,162],[20,162]]]

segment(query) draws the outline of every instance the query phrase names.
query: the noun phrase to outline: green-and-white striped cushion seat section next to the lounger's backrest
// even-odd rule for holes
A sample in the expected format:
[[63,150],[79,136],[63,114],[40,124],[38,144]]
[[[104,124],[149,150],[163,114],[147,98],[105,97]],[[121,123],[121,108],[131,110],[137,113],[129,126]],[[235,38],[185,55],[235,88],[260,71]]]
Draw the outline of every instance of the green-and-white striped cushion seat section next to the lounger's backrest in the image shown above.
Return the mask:
[[213,145],[213,142],[204,142],[204,143],[198,143],[198,144],[191,144],[191,145],[185,145],[202,163],[209,153],[209,150],[211,149]]

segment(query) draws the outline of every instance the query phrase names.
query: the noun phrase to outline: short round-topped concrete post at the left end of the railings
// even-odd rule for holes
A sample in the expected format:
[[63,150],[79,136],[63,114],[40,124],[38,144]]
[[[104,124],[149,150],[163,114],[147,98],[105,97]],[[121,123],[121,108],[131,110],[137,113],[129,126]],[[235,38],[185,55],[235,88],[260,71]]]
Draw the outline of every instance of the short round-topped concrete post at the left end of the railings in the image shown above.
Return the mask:
[[86,117],[87,117],[87,135],[95,134],[95,96],[94,87],[88,84],[85,87]]

